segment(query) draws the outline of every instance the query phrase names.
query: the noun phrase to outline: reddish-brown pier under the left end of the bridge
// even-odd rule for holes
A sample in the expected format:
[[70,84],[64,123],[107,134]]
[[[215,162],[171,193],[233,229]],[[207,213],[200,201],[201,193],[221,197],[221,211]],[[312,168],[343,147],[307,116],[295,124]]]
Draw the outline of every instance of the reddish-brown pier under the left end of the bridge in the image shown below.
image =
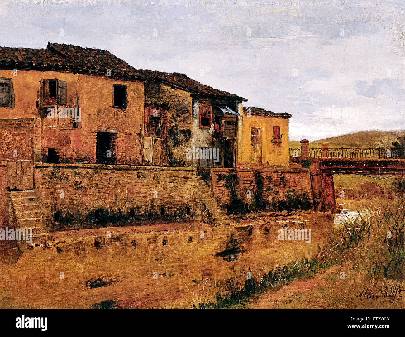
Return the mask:
[[336,209],[335,184],[333,175],[321,173],[319,161],[313,160],[309,166],[313,207],[316,211],[332,211]]

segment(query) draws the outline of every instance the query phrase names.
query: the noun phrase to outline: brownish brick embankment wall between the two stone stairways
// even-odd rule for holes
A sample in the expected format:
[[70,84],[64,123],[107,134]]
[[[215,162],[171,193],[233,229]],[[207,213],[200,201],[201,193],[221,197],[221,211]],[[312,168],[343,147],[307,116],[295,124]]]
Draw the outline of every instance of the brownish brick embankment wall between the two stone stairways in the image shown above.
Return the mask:
[[[94,216],[96,209],[120,209],[128,215],[134,208],[136,216],[143,221],[148,220],[149,212],[160,218],[161,207],[166,217],[174,212],[186,215],[186,207],[190,207],[190,216],[186,218],[200,216],[194,168],[37,164],[35,185],[48,226],[55,211],[62,211],[70,218],[77,216],[83,223],[87,215]],[[61,191],[64,198],[60,198]]]

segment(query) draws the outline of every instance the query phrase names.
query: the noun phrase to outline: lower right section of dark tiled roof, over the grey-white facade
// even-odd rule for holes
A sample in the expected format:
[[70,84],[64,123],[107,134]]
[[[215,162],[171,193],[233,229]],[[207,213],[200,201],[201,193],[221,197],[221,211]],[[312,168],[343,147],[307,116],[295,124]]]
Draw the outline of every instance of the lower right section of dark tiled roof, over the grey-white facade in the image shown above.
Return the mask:
[[222,91],[215,89],[213,87],[209,87],[208,85],[201,84],[198,81],[188,77],[185,74],[180,73],[164,73],[162,71],[156,70],[140,70],[143,72],[143,75],[149,81],[160,81],[164,83],[168,83],[169,85],[176,87],[178,89],[183,89],[185,91],[200,94],[202,96],[216,96],[216,97],[226,97],[226,98],[235,98],[238,100],[243,100],[247,102],[246,98],[241,96],[230,94],[229,92]]

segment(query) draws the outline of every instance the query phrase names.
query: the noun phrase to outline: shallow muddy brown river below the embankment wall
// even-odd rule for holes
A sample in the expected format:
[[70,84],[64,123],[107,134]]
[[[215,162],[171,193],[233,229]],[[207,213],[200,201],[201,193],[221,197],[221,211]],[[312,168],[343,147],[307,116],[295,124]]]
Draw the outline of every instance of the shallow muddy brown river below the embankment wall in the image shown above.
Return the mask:
[[[315,254],[330,228],[364,202],[337,200],[341,213],[261,216],[230,226],[203,223],[51,233],[43,249],[0,242],[1,308],[190,308],[229,279],[260,279],[277,265]],[[252,216],[252,214],[250,214]],[[311,229],[311,243],[280,241],[280,228]],[[111,232],[111,237],[107,233]]]

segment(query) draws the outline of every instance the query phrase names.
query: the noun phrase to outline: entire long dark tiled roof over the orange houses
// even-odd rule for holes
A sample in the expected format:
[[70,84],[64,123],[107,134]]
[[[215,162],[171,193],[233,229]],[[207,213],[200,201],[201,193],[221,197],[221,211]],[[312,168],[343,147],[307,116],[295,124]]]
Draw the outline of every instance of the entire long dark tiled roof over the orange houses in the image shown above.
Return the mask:
[[160,81],[202,96],[246,98],[203,85],[185,74],[136,69],[107,50],[48,43],[47,49],[0,47],[0,69],[54,70],[72,73]]

